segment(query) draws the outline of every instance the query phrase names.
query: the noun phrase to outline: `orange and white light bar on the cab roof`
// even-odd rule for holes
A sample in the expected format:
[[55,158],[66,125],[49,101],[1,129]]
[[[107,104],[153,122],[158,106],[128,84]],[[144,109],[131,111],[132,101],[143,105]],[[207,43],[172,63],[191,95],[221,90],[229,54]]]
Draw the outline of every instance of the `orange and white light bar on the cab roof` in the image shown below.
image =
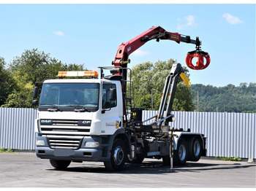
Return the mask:
[[97,71],[59,71],[58,77],[98,77]]

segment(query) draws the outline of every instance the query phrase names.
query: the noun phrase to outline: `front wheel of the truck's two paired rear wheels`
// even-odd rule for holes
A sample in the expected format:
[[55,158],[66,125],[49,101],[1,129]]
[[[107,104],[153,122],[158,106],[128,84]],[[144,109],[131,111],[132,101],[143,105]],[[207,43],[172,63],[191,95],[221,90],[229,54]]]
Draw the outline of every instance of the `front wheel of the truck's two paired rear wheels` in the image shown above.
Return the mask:
[[173,153],[173,164],[174,165],[184,165],[188,158],[188,147],[187,141],[184,139],[178,140],[177,149]]

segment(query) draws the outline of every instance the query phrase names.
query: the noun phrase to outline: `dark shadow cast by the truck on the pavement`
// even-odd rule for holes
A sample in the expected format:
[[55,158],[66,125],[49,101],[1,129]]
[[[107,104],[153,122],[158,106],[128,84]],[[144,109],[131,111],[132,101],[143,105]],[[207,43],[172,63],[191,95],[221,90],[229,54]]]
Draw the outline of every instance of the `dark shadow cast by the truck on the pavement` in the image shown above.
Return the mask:
[[121,171],[108,171],[105,169],[103,163],[90,163],[86,165],[72,165],[64,170],[56,170],[54,168],[48,169],[48,171],[67,171],[67,172],[80,172],[80,173],[102,173],[102,174],[170,174],[170,173],[181,173],[181,172],[193,172],[200,173],[203,171],[212,170],[225,170],[233,168],[249,168],[256,166],[255,164],[241,165],[241,163],[192,163],[187,162],[184,166],[174,166],[173,170],[170,166],[163,165],[162,160],[143,162],[141,164],[126,163]]

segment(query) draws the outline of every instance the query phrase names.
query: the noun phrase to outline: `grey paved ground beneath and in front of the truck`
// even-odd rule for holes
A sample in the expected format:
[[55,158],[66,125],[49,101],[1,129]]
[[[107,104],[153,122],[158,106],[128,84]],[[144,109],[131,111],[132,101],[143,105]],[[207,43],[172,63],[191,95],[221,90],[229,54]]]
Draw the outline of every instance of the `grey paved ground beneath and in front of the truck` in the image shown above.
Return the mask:
[[109,172],[103,163],[71,163],[56,171],[48,160],[34,153],[0,153],[1,187],[256,187],[256,165],[203,157],[197,163],[170,171],[162,160],[146,159],[127,164],[121,172]]

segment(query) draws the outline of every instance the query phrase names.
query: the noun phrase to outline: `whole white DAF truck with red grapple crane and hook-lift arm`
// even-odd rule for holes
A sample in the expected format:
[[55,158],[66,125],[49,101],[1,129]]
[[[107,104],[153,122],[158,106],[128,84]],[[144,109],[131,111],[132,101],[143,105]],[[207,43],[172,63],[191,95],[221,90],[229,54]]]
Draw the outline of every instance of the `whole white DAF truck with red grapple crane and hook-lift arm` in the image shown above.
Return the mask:
[[[99,67],[100,75],[97,71],[59,71],[59,79],[34,87],[37,157],[50,160],[57,169],[71,162],[95,161],[103,162],[109,171],[120,171],[125,163],[143,163],[145,158],[162,159],[173,168],[206,155],[202,133],[170,125],[175,120],[171,111],[178,78],[190,85],[180,63],[174,63],[166,77],[156,116],[143,120],[143,108],[135,107],[128,58],[151,39],[195,44],[196,50],[186,58],[191,69],[205,69],[210,63],[198,37],[193,40],[154,26],[122,43],[113,66]],[[198,58],[195,66],[192,58]]]

